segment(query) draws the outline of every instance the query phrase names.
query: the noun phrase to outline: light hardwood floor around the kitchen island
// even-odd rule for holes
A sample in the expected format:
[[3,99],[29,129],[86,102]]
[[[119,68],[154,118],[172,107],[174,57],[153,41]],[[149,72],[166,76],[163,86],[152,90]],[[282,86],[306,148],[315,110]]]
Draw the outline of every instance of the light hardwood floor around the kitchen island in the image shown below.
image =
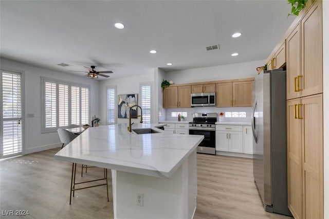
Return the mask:
[[[0,210],[28,210],[19,218],[113,218],[111,171],[109,202],[106,188],[76,191],[69,205],[71,163],[54,160],[51,149],[0,162]],[[79,165],[77,181],[81,180]],[[88,169],[83,180],[102,176]],[[251,159],[197,155],[197,208],[200,218],[290,218],[265,212],[252,177]],[[163,206],[164,208],[166,206]],[[1,218],[17,216],[1,215]],[[151,219],[151,218],[150,218]]]

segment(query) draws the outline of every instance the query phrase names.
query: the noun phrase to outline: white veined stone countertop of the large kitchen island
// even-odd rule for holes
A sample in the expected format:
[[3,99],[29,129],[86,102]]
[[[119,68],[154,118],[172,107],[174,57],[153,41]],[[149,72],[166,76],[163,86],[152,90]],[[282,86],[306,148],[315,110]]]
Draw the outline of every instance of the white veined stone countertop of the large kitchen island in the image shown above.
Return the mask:
[[[160,127],[134,123],[132,129]],[[129,133],[127,124],[89,127],[54,157],[57,160],[169,178],[204,139],[203,135]]]

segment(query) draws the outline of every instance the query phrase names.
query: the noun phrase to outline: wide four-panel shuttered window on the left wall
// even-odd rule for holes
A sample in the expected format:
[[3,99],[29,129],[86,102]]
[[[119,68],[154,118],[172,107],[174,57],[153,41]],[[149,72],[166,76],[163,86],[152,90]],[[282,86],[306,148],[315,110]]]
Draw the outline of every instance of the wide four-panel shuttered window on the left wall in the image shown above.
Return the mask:
[[46,78],[42,78],[42,85],[42,132],[53,132],[70,124],[89,123],[88,86]]

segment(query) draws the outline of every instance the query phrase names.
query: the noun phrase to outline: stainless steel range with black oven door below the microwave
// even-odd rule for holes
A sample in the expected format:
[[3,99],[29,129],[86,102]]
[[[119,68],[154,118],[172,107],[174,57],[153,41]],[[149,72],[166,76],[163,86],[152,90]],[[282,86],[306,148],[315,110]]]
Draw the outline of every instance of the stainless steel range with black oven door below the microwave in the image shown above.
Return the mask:
[[189,124],[189,134],[205,136],[204,140],[197,147],[197,153],[216,154],[216,121],[216,113],[193,113],[193,122]]

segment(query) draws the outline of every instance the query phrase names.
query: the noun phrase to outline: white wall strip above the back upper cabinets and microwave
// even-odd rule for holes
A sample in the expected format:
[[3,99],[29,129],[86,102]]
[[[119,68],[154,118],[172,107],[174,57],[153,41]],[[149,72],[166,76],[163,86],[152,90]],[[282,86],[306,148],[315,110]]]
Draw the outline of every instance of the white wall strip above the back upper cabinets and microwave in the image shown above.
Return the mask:
[[257,75],[256,68],[264,66],[265,60],[243,62],[229,65],[218,65],[206,68],[167,72],[167,80],[175,84],[202,81],[229,80],[239,78],[253,78]]

